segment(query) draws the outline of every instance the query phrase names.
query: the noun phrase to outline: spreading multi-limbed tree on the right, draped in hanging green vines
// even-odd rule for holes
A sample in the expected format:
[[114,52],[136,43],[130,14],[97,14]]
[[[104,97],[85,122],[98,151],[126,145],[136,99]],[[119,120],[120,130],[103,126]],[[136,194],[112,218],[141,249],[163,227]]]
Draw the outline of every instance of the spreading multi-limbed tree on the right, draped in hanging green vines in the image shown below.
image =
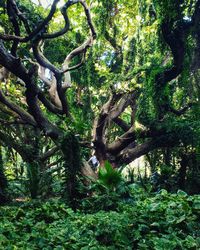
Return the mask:
[[[96,154],[100,161],[110,159],[116,165],[128,164],[155,149],[194,144],[198,121],[190,114],[199,114],[199,86],[192,76],[192,72],[198,71],[197,65],[193,68],[196,56],[192,51],[197,51],[198,47],[199,4],[196,1],[192,7],[191,3],[184,1],[156,1],[154,5],[153,1],[144,1],[140,6],[143,8],[141,16],[138,16],[141,21],[139,28],[144,31],[139,31],[138,41],[134,36],[130,40],[131,66],[130,61],[127,62],[128,57],[123,59],[123,42],[120,47],[117,38],[109,35],[117,26],[117,21],[105,31],[105,39],[115,51],[116,64],[112,67],[114,70],[111,68],[111,72],[117,75],[114,81],[120,87],[123,82],[130,85],[131,82],[137,83],[137,87],[128,88],[128,92],[117,92],[113,87],[110,99],[101,109],[94,133]],[[155,36],[155,31],[160,34]],[[141,55],[136,55],[140,51]],[[121,64],[117,60],[120,53]],[[189,85],[187,78],[194,80],[196,87]],[[188,95],[190,90],[194,96]],[[178,94],[180,91],[183,91],[182,96]],[[122,119],[128,107],[129,124]],[[139,128],[136,127],[138,122]],[[112,128],[113,124],[124,133],[110,143],[108,128]]]

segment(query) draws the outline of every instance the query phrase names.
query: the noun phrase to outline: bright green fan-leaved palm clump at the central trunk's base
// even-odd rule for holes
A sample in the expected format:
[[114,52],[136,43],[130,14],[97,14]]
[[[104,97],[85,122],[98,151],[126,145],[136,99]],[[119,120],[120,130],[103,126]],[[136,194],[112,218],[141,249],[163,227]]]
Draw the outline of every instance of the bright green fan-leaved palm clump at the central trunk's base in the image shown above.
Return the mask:
[[98,179],[90,179],[89,185],[81,184],[80,189],[83,199],[79,201],[79,207],[86,213],[116,210],[120,200],[129,197],[128,183],[108,161],[100,167]]

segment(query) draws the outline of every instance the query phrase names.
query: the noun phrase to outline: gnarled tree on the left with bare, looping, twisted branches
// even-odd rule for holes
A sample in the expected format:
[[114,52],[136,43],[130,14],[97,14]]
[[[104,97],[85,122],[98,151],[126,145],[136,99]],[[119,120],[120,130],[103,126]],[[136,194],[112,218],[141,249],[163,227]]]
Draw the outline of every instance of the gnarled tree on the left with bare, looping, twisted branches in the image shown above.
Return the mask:
[[[45,18],[40,20],[40,24],[36,28],[33,28],[33,30],[31,30],[31,24],[35,25],[36,20],[34,20],[33,23],[30,24],[32,20],[26,19],[24,13],[21,12],[20,7],[18,8],[17,2],[6,1],[7,17],[11,23],[11,26],[9,28],[13,29],[14,34],[1,35],[2,40],[0,41],[0,64],[4,67],[2,69],[2,78],[5,78],[5,72],[7,72],[8,70],[19,79],[20,83],[18,82],[17,84],[22,84],[23,88],[25,88],[24,95],[26,97],[26,103],[28,105],[28,112],[9,101],[4,96],[3,92],[1,92],[1,102],[10,110],[17,113],[18,118],[20,118],[23,123],[31,126],[33,129],[40,129],[45,136],[50,137],[52,141],[56,145],[58,145],[58,148],[62,151],[64,158],[66,158],[67,160],[68,152],[66,152],[65,147],[63,147],[63,141],[66,142],[66,133],[58,126],[53,124],[50,119],[44,115],[44,112],[41,108],[41,103],[49,112],[52,112],[55,115],[70,117],[68,103],[65,97],[65,93],[71,84],[69,72],[72,69],[76,69],[81,66],[84,61],[85,53],[87,49],[92,45],[93,40],[96,37],[96,33],[91,21],[88,6],[86,2],[82,0],[68,1],[66,4],[64,4],[61,8],[61,14],[64,19],[64,27],[55,32],[48,32],[47,26],[50,24],[50,21],[57,11],[56,5],[58,2],[58,0],[55,0],[52,3],[49,14]],[[41,47],[43,46],[45,40],[54,39],[68,32],[69,19],[67,12],[72,5],[77,3],[80,3],[85,11],[86,21],[90,30],[90,36],[79,47],[73,49],[66,56],[62,64],[62,68],[59,69],[45,58],[42,53]],[[10,49],[6,49],[3,41],[11,42]],[[18,53],[20,54],[21,49],[20,45],[23,43],[25,43],[25,46],[30,46],[32,50],[29,58],[26,58],[25,55],[23,55],[23,59],[18,57]],[[72,59],[79,54],[82,55],[81,63],[70,67]],[[32,60],[32,57],[34,57],[34,60]],[[25,62],[23,62],[23,60]],[[45,76],[45,69],[49,69],[50,79]],[[45,96],[45,93],[41,90],[42,86],[40,86],[39,84],[39,79],[42,79],[43,83],[45,83],[49,87],[49,100],[47,99],[47,96]],[[18,123],[18,121],[16,121],[16,123]],[[12,147],[15,147],[15,149],[24,157],[30,155],[27,154],[24,146],[20,147],[18,143],[10,140],[10,138],[5,136],[5,133],[2,133],[2,139],[3,141],[5,141],[4,139],[6,139],[8,144]],[[31,162],[31,164],[38,164],[38,157],[33,156],[29,158],[28,156],[27,159],[28,162]],[[76,168],[76,166],[74,166],[74,168]],[[74,175],[76,175],[75,169],[73,172]],[[71,179],[69,181],[71,181]],[[72,189],[73,188],[71,188],[70,190]]]

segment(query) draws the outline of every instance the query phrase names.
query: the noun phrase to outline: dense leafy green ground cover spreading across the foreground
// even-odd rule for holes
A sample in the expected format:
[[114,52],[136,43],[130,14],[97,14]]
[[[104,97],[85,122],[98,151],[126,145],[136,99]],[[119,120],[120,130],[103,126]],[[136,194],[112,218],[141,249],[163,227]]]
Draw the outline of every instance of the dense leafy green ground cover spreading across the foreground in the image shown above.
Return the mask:
[[134,203],[85,214],[63,202],[26,202],[0,210],[1,249],[199,249],[200,197],[134,186]]

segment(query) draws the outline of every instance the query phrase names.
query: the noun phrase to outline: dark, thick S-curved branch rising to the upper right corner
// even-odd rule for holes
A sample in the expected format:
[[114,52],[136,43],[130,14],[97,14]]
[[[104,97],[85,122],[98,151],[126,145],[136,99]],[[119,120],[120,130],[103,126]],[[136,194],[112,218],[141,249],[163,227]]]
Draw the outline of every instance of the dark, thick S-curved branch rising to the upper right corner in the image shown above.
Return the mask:
[[[164,96],[164,88],[168,82],[175,79],[183,70],[183,63],[185,57],[185,42],[188,31],[192,28],[197,29],[200,23],[200,1],[195,5],[194,15],[191,22],[177,20],[175,23],[166,20],[161,25],[164,41],[170,47],[173,55],[173,66],[157,74],[156,76],[156,102],[159,111],[159,118],[162,119],[167,111],[169,111],[169,100]],[[173,112],[173,109],[170,110]],[[179,112],[174,112],[181,115]]]

